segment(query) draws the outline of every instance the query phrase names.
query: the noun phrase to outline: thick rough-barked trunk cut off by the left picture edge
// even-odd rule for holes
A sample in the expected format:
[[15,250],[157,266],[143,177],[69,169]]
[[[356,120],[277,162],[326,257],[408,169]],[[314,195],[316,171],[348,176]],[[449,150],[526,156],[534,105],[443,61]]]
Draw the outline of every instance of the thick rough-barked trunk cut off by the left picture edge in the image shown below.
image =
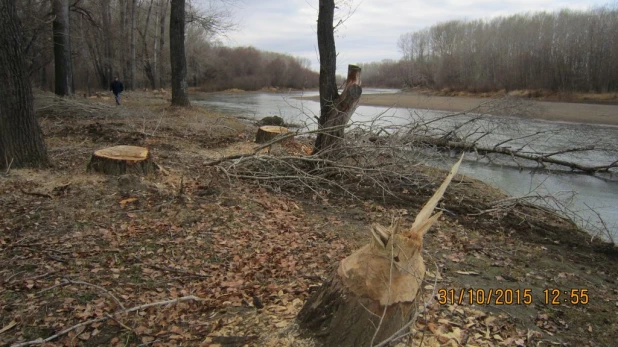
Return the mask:
[[0,168],[47,164],[13,0],[0,0]]

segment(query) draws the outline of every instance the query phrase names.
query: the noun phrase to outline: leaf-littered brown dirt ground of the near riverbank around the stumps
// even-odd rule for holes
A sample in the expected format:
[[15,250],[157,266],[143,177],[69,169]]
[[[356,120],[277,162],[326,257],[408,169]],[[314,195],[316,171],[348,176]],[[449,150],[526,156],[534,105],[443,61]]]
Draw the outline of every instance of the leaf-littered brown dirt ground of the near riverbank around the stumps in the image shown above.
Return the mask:
[[[411,225],[433,193],[326,200],[229,179],[204,163],[250,152],[254,126],[167,97],[37,96],[53,167],[0,173],[0,345],[314,346],[295,323],[304,300],[371,223]],[[120,144],[149,147],[163,170],[86,173]],[[614,345],[616,247],[530,206],[492,208],[506,198],[453,181],[425,238],[422,313],[399,345]]]

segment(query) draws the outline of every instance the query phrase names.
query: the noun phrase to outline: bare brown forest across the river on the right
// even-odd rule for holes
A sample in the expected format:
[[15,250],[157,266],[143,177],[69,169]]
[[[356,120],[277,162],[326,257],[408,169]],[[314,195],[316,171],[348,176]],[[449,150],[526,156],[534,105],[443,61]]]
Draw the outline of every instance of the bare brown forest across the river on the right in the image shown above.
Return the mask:
[[363,85],[469,92],[618,91],[618,8],[449,21],[401,35],[399,61],[361,64]]

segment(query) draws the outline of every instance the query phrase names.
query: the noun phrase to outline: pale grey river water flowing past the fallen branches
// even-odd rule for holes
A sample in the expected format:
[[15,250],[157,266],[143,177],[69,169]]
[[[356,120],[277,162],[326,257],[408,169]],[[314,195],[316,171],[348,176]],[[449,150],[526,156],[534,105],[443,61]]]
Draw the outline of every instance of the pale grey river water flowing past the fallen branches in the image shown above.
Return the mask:
[[[397,90],[364,88],[363,94],[396,93]],[[205,106],[214,111],[234,114],[241,117],[259,120],[265,116],[280,116],[286,123],[301,125],[309,129],[316,127],[320,105],[316,101],[300,100],[299,96],[315,96],[317,92],[275,93],[211,93],[201,94],[193,100],[194,104]],[[411,122],[432,123],[433,130],[446,129],[457,124],[464,124],[475,117],[466,114],[452,118],[442,118],[449,112],[416,110],[402,108],[387,108],[374,106],[359,106],[352,122],[373,125],[380,123],[382,127],[403,125]],[[491,120],[481,119],[470,122],[460,128],[460,136],[469,135],[474,139],[476,130],[491,130],[492,135],[483,137],[479,144],[491,147],[508,138],[539,133],[525,139],[508,142],[513,148],[523,147],[524,150],[553,152],[564,148],[595,145],[601,150],[565,153],[556,158],[576,161],[586,165],[607,165],[618,160],[618,127],[605,125],[587,125],[574,123],[546,122],[515,117],[496,117]],[[523,134],[523,135],[522,135]],[[533,140],[533,141],[531,141]],[[615,241],[618,241],[618,182],[616,177],[594,177],[568,172],[545,170],[520,170],[511,161],[475,160],[476,155],[466,155],[460,172],[491,184],[514,197],[551,195],[560,201],[561,209],[575,213],[579,217],[575,222],[581,227],[595,233],[601,229],[609,229]],[[437,160],[434,165],[447,168],[453,161]],[[534,166],[534,165],[533,165]],[[552,205],[553,200],[535,199],[537,203]],[[599,219],[601,216],[602,221]]]

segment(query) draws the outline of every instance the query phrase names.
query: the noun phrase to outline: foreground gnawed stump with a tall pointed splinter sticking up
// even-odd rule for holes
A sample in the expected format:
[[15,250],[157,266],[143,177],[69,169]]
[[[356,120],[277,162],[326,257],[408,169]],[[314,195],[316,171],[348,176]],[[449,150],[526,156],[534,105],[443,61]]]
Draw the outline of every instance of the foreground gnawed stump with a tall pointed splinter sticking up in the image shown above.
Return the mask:
[[373,346],[407,332],[425,277],[423,235],[440,217],[441,212],[431,214],[461,159],[409,231],[399,232],[399,219],[390,227],[372,225],[370,244],[343,259],[307,300],[298,314],[301,328],[312,332],[324,346]]

